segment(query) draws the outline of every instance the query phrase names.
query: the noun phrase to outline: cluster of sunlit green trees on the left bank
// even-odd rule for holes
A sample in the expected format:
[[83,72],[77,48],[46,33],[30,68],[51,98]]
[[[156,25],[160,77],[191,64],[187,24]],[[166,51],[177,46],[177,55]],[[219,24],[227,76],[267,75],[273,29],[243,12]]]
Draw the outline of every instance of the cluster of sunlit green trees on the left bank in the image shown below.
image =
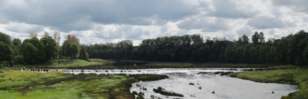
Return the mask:
[[[55,31],[53,37],[49,36],[48,32],[44,32],[41,39],[37,38],[37,32],[29,32],[28,36],[29,38],[23,41],[18,38],[12,40],[10,35],[0,32],[0,65],[4,62],[6,65],[44,64],[51,59],[63,58],[62,46],[59,45],[61,38],[59,32]],[[76,37],[70,34],[65,36],[63,55],[75,57],[80,53],[84,56],[83,59],[87,60],[87,52],[83,46],[80,46],[79,38],[71,39],[71,36]]]

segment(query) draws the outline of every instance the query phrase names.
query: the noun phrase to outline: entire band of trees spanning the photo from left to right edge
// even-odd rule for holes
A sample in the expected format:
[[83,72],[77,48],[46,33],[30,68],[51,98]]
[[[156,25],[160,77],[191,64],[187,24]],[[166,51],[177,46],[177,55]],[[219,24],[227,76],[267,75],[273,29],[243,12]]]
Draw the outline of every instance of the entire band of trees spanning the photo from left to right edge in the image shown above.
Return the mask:
[[[106,42],[105,44],[80,44],[79,38],[68,34],[62,46],[60,36],[54,38],[45,32],[41,39],[29,32],[29,39],[21,42],[0,32],[0,64],[43,64],[55,58],[80,58],[145,60],[168,62],[220,62],[245,64],[308,64],[308,33],[301,30],[280,39],[268,38],[255,31],[251,37],[245,34],[233,41],[225,37],[201,36],[198,34],[165,36],[144,39],[138,46],[130,40]],[[58,53],[57,53],[58,52]]]

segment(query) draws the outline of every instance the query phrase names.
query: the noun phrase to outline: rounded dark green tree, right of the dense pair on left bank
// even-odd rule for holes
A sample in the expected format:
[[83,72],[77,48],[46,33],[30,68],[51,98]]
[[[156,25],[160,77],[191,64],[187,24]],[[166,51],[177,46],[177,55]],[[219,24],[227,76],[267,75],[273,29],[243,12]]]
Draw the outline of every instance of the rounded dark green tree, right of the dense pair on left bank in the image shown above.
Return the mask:
[[50,60],[52,58],[56,58],[58,56],[58,48],[57,43],[52,37],[43,37],[40,39],[45,45],[45,54],[46,54],[46,60]]

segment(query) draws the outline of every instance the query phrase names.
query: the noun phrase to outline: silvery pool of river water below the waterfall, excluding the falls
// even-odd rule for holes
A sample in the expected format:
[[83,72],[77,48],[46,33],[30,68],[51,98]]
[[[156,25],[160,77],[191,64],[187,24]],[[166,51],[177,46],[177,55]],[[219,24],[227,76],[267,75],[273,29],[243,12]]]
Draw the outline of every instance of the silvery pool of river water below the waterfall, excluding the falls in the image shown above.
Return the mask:
[[[277,83],[259,83],[249,80],[231,78],[226,76],[215,75],[213,73],[200,74],[196,71],[186,72],[169,72],[164,73],[169,79],[163,79],[151,82],[133,83],[132,91],[144,93],[144,98],[151,98],[151,95],[162,99],[280,99],[282,96],[297,91],[297,86]],[[188,83],[195,85],[188,85]],[[139,84],[147,90],[140,90],[136,87]],[[162,87],[167,91],[183,94],[184,97],[164,96],[154,93],[153,88]],[[201,89],[199,89],[201,87]],[[215,94],[212,92],[215,91]],[[272,94],[274,91],[274,94]]]

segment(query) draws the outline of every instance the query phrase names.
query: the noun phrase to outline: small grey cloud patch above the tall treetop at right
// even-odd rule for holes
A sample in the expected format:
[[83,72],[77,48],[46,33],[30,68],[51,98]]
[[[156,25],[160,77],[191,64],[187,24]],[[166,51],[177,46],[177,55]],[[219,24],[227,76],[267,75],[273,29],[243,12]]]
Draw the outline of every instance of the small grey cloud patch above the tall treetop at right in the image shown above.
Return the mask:
[[286,24],[284,24],[282,20],[265,16],[249,19],[247,24],[257,29],[286,27]]

